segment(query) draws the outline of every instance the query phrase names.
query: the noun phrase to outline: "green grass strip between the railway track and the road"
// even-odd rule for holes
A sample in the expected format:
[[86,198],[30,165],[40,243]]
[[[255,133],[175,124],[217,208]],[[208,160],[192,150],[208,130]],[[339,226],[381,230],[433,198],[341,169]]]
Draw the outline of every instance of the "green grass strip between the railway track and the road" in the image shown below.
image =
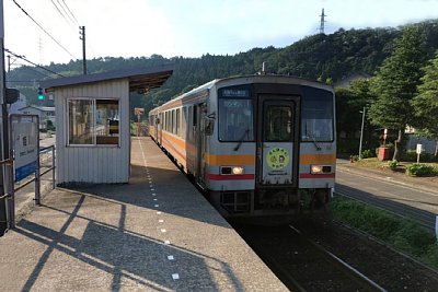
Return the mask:
[[438,243],[435,234],[417,222],[343,197],[335,197],[332,200],[331,210],[335,220],[364,231],[389,246],[438,268]]

